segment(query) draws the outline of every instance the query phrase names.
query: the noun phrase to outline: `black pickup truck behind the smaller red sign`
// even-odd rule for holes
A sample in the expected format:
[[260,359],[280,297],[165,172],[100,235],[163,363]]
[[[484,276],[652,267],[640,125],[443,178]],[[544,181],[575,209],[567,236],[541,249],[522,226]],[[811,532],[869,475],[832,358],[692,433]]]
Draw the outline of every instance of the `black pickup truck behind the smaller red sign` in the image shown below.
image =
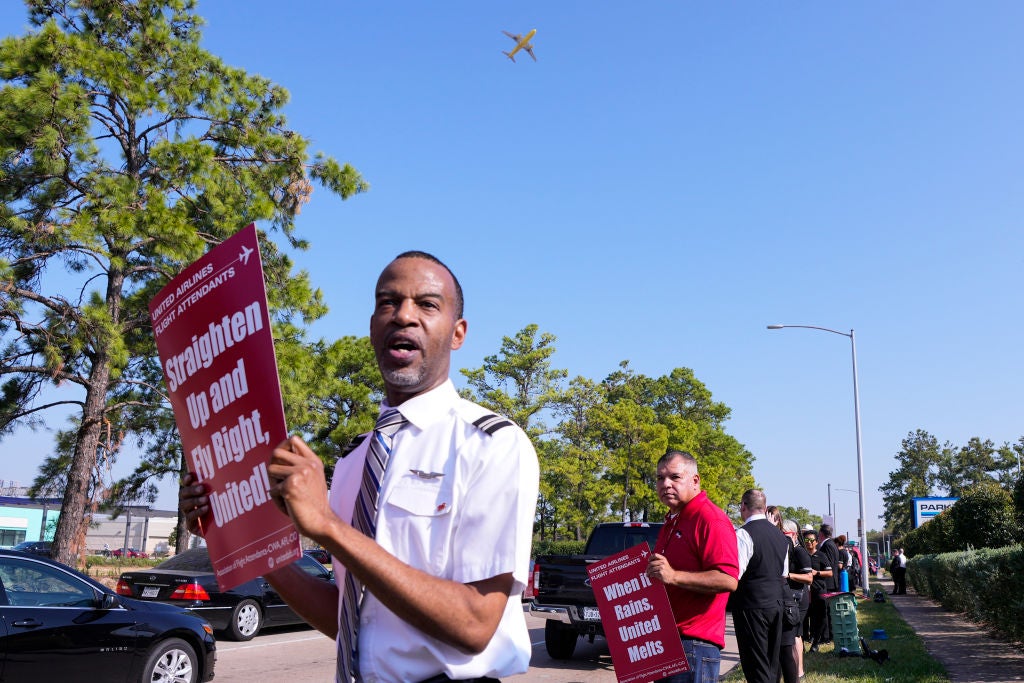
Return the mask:
[[529,612],[548,620],[544,642],[554,659],[568,659],[580,636],[604,636],[587,566],[647,542],[654,549],[660,522],[608,522],[590,532],[583,555],[541,555],[534,567],[536,595]]

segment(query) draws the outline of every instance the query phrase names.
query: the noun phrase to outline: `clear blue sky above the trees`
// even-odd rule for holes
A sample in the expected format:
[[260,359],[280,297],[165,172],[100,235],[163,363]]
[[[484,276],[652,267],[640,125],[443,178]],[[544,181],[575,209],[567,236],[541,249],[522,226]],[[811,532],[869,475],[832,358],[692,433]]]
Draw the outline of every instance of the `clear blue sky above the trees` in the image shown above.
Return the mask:
[[[316,191],[296,255],[368,332],[407,249],[459,274],[479,367],[536,323],[554,365],[693,369],[769,503],[868,527],[908,432],[1024,434],[1024,4],[206,0],[204,44],[287,87],[370,193]],[[0,5],[3,34],[24,10]],[[534,39],[538,61],[502,50]],[[241,225],[240,225],[241,227]],[[9,439],[42,458],[40,434]],[[0,478],[31,480],[30,459]],[[170,483],[166,487],[172,489]],[[173,505],[171,490],[162,501]]]

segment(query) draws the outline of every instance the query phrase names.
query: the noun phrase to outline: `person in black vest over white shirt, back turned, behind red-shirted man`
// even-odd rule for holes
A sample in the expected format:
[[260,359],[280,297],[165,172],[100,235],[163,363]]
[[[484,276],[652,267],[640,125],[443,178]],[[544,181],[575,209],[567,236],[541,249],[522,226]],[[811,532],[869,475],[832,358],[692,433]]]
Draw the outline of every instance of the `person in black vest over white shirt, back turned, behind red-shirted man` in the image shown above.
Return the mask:
[[739,514],[744,522],[736,530],[739,584],[729,596],[739,664],[748,683],[778,683],[791,544],[765,517],[763,492],[746,490]]

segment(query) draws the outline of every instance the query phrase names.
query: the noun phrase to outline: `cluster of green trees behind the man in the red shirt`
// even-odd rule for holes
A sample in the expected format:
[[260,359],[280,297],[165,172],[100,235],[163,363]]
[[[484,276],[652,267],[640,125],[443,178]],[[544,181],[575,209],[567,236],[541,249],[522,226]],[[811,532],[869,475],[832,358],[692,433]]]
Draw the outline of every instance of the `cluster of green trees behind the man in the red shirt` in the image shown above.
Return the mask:
[[623,361],[601,382],[577,377],[565,386],[567,373],[552,366],[555,341],[530,325],[482,368],[463,371],[464,395],[516,419],[534,440],[542,539],[582,540],[611,519],[660,519],[654,471],[670,447],[697,457],[705,488],[722,507],[754,485],[753,456],[724,430],[728,407],[691,370],[652,378]]

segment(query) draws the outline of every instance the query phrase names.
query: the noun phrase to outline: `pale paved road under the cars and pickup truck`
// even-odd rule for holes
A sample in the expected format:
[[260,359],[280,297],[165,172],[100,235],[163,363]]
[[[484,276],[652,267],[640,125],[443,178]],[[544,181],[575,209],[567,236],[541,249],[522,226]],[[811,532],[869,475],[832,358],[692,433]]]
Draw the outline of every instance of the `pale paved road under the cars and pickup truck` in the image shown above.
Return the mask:
[[[544,621],[525,615],[534,653],[529,671],[507,677],[508,683],[612,683],[615,672],[603,638],[581,639],[569,660],[556,660],[544,648]],[[722,653],[722,673],[736,666],[731,623]],[[217,683],[324,683],[334,680],[334,641],[311,629],[270,629],[246,643],[217,641]]]

